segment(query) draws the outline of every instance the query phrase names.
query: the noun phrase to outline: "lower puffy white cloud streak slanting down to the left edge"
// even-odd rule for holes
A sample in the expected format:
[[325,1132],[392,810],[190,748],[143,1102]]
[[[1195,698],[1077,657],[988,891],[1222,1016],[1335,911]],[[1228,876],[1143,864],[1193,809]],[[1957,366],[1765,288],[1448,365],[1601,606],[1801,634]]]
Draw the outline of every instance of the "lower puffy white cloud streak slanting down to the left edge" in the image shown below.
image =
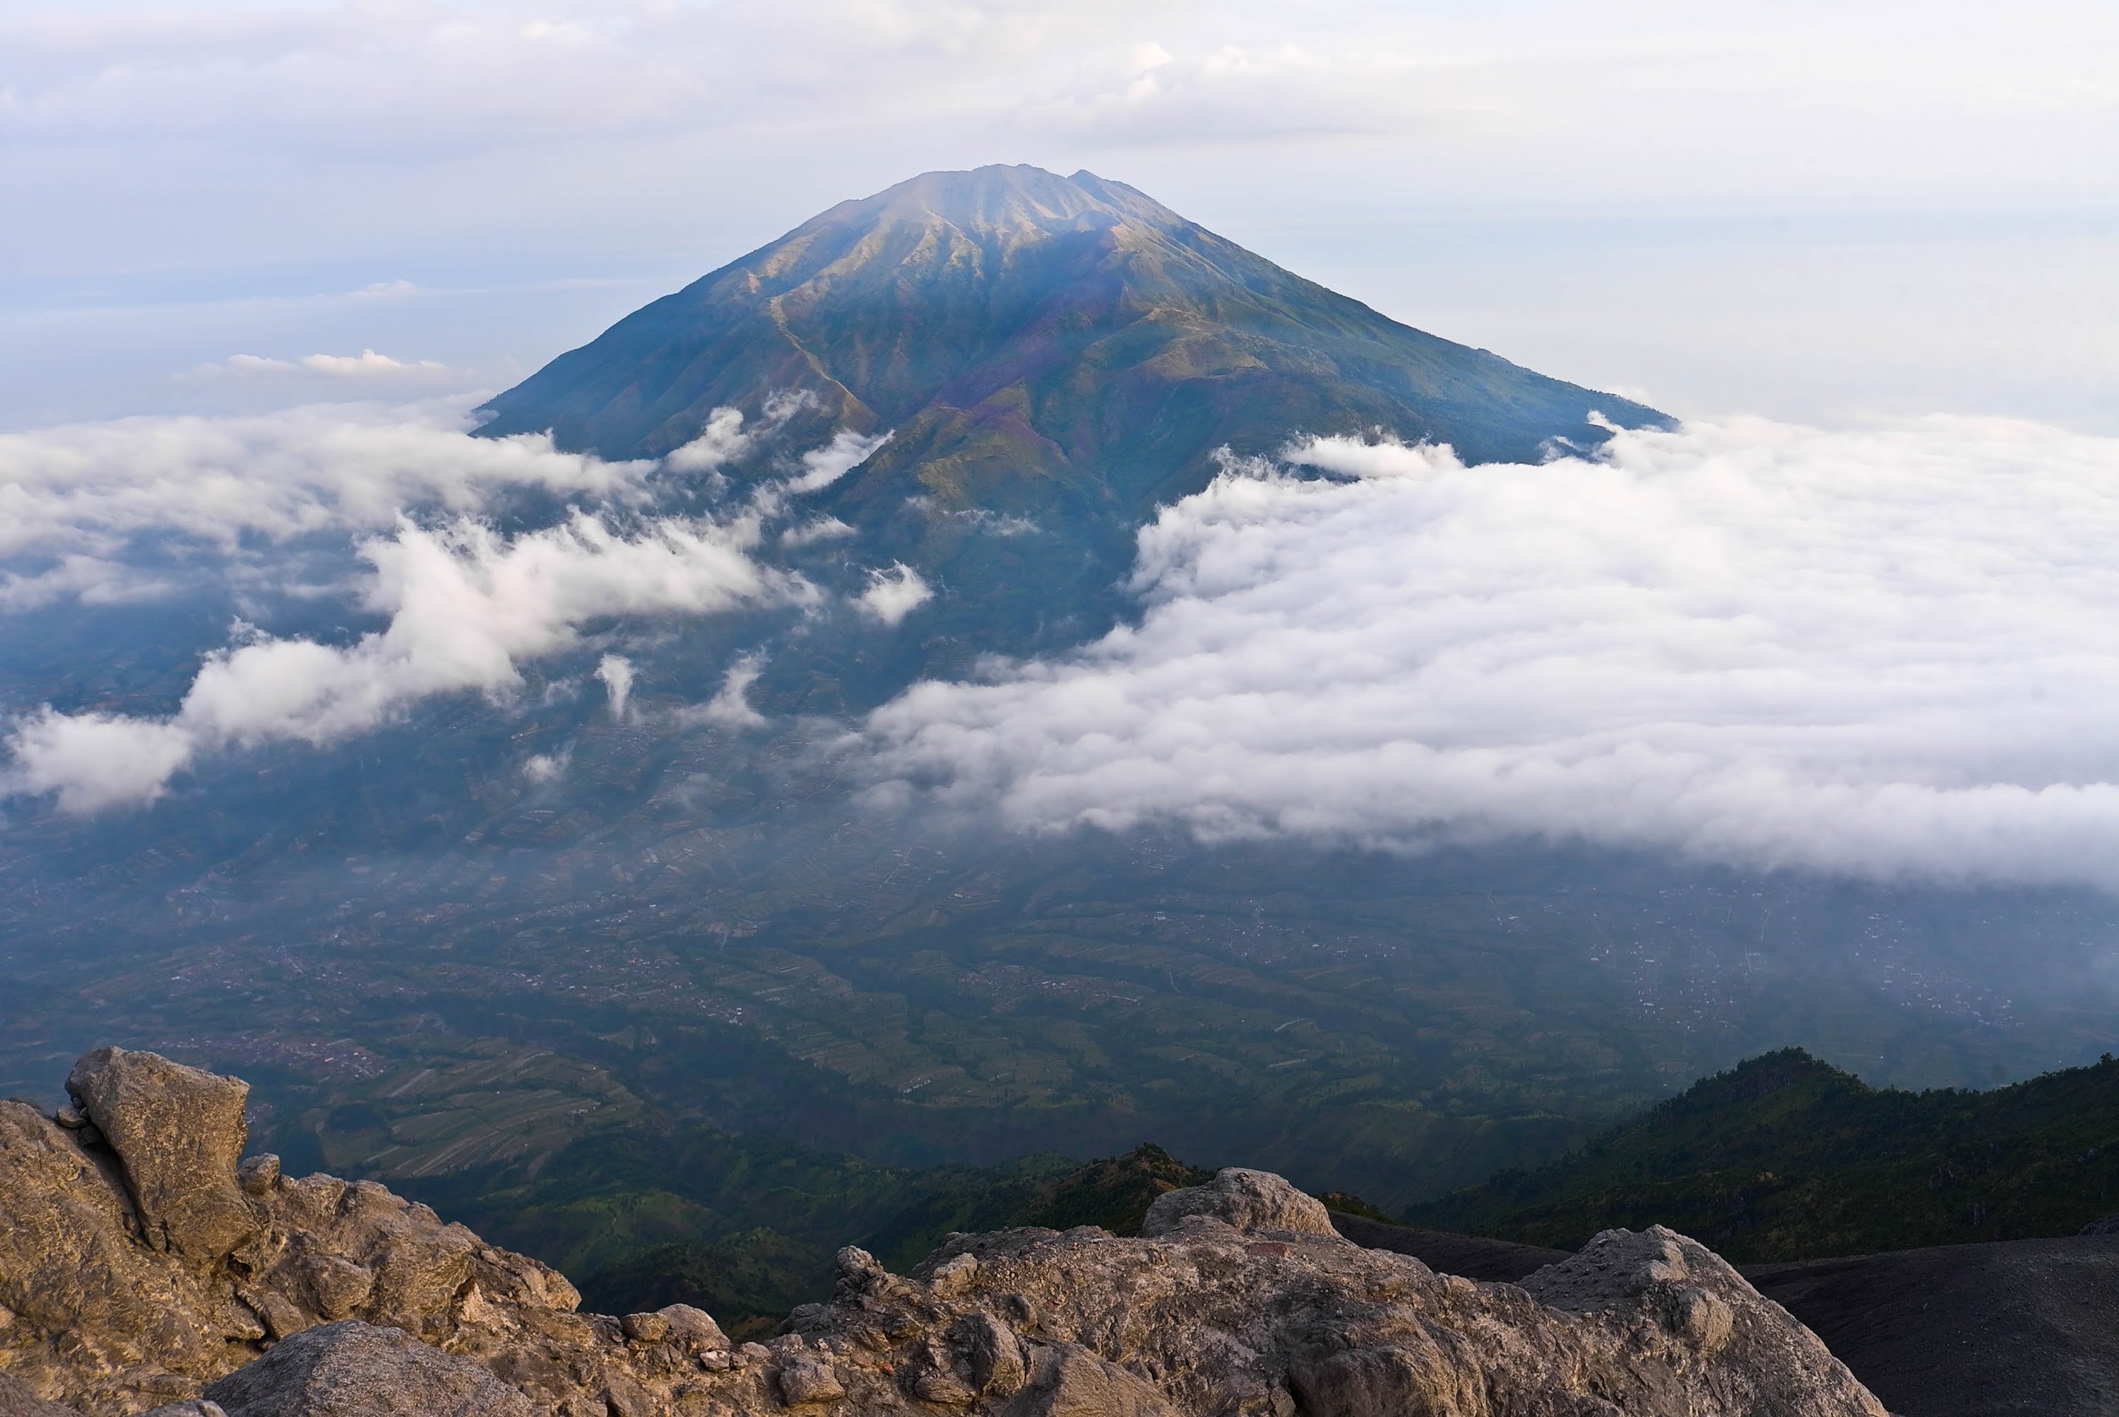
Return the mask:
[[[515,540],[468,519],[403,523],[360,546],[375,570],[367,604],[390,616],[386,629],[350,646],[252,635],[214,650],[170,718],[44,707],[8,733],[6,786],[57,792],[76,813],[148,803],[216,748],[331,743],[430,695],[506,693],[523,661],[572,648],[587,621],[814,599],[807,582],[750,559],[756,540],[750,519],[670,517],[621,536],[576,515]],[[623,714],[631,667],[606,657],[598,678]]]

